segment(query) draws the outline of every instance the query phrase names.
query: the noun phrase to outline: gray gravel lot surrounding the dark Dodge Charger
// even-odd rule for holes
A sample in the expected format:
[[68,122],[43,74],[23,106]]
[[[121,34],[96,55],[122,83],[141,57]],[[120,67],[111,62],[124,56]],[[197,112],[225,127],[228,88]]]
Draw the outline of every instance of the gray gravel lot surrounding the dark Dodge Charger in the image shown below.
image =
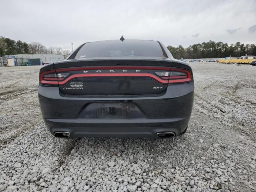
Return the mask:
[[0,67],[0,191],[255,191],[256,67],[191,63],[186,134],[54,138],[38,104],[40,66]]

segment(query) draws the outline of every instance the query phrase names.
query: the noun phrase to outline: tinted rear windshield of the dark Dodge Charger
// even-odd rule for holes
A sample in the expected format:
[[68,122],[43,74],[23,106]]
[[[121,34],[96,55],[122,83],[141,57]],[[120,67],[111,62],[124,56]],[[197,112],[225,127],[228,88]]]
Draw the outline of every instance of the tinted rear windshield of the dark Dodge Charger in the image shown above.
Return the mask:
[[[77,52],[77,53],[76,53]],[[84,44],[70,58],[92,57],[163,57],[163,51],[157,41],[148,40],[110,40]]]

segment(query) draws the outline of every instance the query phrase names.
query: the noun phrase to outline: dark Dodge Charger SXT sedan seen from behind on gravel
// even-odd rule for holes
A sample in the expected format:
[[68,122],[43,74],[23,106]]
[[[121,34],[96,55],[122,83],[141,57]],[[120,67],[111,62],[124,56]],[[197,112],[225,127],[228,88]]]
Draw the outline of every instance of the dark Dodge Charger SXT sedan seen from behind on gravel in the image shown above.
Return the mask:
[[59,138],[168,138],[187,130],[194,81],[159,41],[88,42],[40,69],[38,97]]

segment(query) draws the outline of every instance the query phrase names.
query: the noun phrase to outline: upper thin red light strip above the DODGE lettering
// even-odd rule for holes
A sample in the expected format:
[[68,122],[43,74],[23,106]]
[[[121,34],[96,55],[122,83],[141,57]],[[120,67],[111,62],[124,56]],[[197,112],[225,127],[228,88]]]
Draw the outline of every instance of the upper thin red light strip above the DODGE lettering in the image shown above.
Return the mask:
[[98,66],[98,67],[78,67],[78,68],[60,68],[56,72],[77,71],[77,70],[98,70],[98,69],[149,69],[149,70],[170,70],[170,67],[148,67],[148,66]]

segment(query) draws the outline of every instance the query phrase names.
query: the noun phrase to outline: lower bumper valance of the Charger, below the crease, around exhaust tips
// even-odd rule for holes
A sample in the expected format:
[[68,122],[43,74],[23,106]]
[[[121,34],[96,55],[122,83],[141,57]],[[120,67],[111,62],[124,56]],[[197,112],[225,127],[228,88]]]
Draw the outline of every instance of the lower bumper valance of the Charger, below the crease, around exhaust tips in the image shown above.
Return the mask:
[[180,134],[189,118],[174,119],[51,119],[45,120],[50,132],[69,132],[75,137],[150,137],[158,132]]

